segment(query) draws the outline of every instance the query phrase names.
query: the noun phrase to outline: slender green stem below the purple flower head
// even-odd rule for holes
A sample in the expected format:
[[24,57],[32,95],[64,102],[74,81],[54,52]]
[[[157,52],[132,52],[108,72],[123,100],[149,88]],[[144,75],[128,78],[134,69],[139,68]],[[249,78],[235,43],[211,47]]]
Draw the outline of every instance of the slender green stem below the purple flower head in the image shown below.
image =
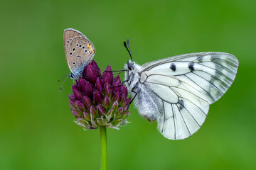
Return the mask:
[[102,145],[101,170],[107,170],[107,130],[105,126],[100,126],[100,141]]

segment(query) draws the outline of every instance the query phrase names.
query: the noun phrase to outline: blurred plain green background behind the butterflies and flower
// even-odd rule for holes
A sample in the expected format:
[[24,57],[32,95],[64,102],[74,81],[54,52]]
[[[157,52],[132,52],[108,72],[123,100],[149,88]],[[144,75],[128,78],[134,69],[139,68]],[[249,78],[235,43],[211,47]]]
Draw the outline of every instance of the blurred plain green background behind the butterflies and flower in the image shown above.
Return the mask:
[[[210,106],[201,130],[167,140],[132,106],[107,130],[109,169],[256,169],[256,1],[1,1],[0,169],[100,169],[100,130],[84,131],[70,112],[63,30],[95,45],[103,70],[129,60],[188,52],[229,52],[238,75]],[[123,75],[120,75],[123,77]]]

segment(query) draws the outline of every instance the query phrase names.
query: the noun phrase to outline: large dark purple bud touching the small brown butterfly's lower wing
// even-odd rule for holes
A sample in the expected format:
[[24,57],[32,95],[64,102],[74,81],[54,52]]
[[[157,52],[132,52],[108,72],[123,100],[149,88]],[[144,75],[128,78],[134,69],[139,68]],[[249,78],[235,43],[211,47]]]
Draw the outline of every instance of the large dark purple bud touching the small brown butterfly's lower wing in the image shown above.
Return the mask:
[[97,78],[100,77],[100,74],[98,70],[91,63],[89,63],[85,66],[82,76],[92,85],[94,85]]

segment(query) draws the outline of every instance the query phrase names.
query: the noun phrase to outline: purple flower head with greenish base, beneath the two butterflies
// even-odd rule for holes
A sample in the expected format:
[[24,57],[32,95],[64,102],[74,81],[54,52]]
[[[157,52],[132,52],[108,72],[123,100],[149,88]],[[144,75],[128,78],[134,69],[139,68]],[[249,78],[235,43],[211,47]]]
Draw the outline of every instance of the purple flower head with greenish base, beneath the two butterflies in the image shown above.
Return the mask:
[[127,125],[128,106],[127,88],[120,85],[119,76],[114,77],[110,66],[100,74],[100,68],[92,60],[85,66],[82,77],[72,86],[69,96],[70,108],[75,115],[75,123],[85,130],[99,126],[118,129]]

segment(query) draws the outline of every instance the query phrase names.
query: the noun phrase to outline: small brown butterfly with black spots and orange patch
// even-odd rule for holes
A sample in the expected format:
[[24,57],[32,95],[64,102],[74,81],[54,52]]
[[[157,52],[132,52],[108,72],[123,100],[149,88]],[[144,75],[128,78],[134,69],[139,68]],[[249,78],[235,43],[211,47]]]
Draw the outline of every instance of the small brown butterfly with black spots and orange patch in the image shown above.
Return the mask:
[[72,28],[64,30],[64,47],[70,78],[78,79],[85,65],[92,61],[95,47],[85,35]]

